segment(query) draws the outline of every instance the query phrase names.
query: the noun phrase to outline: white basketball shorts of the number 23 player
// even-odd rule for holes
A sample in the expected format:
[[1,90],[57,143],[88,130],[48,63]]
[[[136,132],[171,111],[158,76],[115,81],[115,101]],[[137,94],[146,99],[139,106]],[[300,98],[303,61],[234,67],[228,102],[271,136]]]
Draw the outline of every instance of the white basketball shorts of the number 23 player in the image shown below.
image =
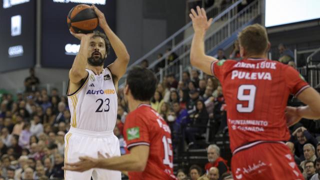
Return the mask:
[[[64,136],[64,162],[77,162],[79,156],[91,156],[97,158],[97,152],[120,156],[119,140],[113,134],[113,131],[94,132],[89,130],[70,127],[70,130]],[[109,180],[121,179],[121,172],[116,170],[107,170],[93,168],[83,172],[64,170],[64,179],[66,180]]]

